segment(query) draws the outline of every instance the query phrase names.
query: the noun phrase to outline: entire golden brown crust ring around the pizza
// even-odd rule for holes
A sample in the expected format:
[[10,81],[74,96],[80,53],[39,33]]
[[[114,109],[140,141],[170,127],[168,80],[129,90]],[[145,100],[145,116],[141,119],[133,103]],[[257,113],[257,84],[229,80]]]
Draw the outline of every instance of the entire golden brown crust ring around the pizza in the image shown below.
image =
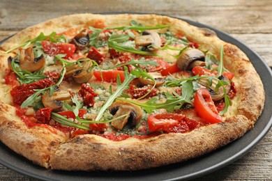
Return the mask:
[[[201,127],[186,134],[163,134],[145,140],[127,139],[114,142],[86,134],[76,136],[66,143],[61,136],[42,141],[43,136],[39,135],[40,132],[36,127],[29,132],[23,123],[13,123],[11,121],[13,118],[6,117],[7,110],[3,108],[5,104],[1,103],[0,113],[3,113],[0,117],[1,141],[33,162],[45,167],[51,166],[53,169],[137,170],[181,162],[203,155],[238,139],[253,127],[264,107],[264,88],[248,57],[238,47],[220,40],[213,31],[191,26],[179,19],[160,15],[68,15],[17,33],[2,45],[2,49],[8,50],[20,42],[35,38],[40,32],[45,35],[52,31],[60,33],[68,30],[71,25],[78,30],[88,26],[126,26],[131,19],[146,26],[169,24],[172,33],[186,35],[188,39],[202,45],[202,49],[209,49],[209,52],[218,59],[220,46],[224,47],[224,64],[235,75],[237,95],[234,97],[232,107],[229,107],[228,113],[225,114],[223,123]],[[21,136],[20,139],[14,139],[13,136],[8,136],[9,134]],[[31,143],[31,139],[25,138],[36,139],[36,142]],[[17,146],[18,141],[21,146]],[[52,147],[52,141],[64,142]],[[29,151],[30,145],[33,146],[33,152]],[[51,148],[54,149],[50,151]],[[38,154],[39,149],[42,152],[40,154]]]

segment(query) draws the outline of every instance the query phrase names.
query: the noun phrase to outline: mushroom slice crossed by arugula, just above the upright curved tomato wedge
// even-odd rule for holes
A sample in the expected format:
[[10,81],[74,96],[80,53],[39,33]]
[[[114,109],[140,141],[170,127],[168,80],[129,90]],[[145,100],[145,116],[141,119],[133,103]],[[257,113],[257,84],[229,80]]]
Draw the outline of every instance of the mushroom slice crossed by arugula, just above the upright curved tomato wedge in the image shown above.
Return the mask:
[[[229,79],[227,77],[225,77],[224,75],[221,75],[220,77],[218,77],[218,79],[220,80],[224,80],[227,81],[229,83]],[[218,100],[222,100],[222,98],[224,98],[224,89],[222,88],[222,86],[220,86],[218,88],[218,91],[216,91],[216,85],[218,84],[218,80],[217,79],[213,79],[212,84],[209,83],[209,79],[199,79],[198,81],[199,84],[201,84],[202,86],[206,86],[206,88],[209,88],[209,92],[211,93],[211,99],[213,101],[218,101]],[[230,86],[224,86],[226,92],[229,92]]]

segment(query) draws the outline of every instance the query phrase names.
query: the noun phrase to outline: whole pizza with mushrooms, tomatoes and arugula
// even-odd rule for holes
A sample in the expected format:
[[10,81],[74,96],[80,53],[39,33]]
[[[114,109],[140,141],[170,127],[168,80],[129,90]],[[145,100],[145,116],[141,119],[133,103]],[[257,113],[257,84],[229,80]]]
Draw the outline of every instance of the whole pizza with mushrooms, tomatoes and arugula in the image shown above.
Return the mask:
[[172,17],[66,15],[0,49],[0,139],[54,170],[182,162],[239,139],[264,107],[238,47]]

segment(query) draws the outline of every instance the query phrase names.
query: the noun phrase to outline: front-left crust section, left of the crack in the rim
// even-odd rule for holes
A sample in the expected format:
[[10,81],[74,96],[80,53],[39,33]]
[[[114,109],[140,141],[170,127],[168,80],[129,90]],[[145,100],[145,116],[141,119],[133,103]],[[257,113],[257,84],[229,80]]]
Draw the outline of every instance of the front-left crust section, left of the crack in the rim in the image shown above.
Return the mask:
[[2,102],[0,113],[0,140],[35,164],[49,168],[52,148],[65,141],[66,135],[52,127],[27,127],[15,116],[15,108]]

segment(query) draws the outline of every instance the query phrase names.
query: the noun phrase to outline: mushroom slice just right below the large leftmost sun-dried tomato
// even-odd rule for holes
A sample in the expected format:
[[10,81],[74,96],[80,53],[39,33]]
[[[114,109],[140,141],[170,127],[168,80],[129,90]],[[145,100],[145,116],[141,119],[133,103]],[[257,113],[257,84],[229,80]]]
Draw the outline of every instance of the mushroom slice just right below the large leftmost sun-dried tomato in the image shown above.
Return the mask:
[[71,96],[68,91],[56,91],[50,96],[50,91],[42,95],[42,102],[45,107],[51,107],[53,111],[60,111],[64,100],[70,100]]

